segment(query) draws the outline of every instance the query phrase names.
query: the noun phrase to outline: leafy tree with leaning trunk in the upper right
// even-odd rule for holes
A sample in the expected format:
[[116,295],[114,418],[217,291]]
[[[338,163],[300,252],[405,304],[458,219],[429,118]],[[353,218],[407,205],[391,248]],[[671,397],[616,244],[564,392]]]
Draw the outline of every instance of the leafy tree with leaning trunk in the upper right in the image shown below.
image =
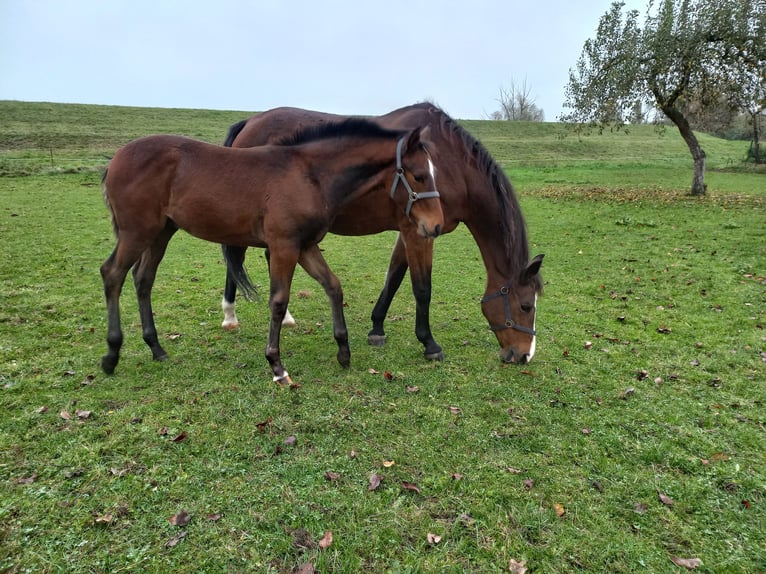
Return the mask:
[[[764,104],[766,0],[649,1],[638,11],[615,2],[570,70],[562,120],[622,125],[650,102],[679,129],[694,159],[693,195],[705,193],[705,152],[692,131],[690,102],[742,111]],[[760,108],[762,109],[762,107]],[[756,132],[757,133],[757,132]]]

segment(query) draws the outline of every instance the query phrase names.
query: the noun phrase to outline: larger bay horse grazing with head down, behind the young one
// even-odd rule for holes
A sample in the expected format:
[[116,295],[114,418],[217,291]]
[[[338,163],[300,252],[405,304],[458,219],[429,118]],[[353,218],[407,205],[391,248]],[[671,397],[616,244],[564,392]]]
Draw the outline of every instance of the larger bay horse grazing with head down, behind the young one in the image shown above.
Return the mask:
[[[342,117],[297,108],[275,108],[231,126],[224,145],[264,145],[292,130],[334,122]],[[439,150],[434,161],[439,171],[444,211],[442,233],[453,231],[460,222],[468,227],[487,271],[481,309],[500,344],[501,359],[508,363],[531,361],[536,347],[535,316],[537,296],[542,293],[540,267],[543,255],[529,260],[524,218],[503,169],[476,138],[431,103],[406,106],[369,119],[388,129],[420,125],[431,128],[431,140]],[[369,343],[385,343],[384,320],[409,268],[416,301],[416,336],[424,346],[427,359],[443,359],[444,353],[433,338],[429,322],[432,243],[419,237],[406,220],[392,218],[386,213],[369,213],[368,218],[366,229],[399,230],[385,284],[372,311]],[[344,210],[338,213],[330,231],[339,235],[366,233],[357,225],[353,212]],[[229,246],[224,249],[230,257],[244,260],[244,248]],[[224,328],[238,325],[235,296],[236,283],[227,274],[222,302]]]

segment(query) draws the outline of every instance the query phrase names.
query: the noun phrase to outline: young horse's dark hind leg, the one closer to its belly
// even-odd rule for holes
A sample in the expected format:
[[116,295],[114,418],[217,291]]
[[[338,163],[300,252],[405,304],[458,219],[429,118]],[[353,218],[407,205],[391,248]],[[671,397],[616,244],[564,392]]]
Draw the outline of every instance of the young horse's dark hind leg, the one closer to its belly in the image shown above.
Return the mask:
[[141,258],[133,268],[133,282],[138,297],[138,313],[141,316],[141,330],[144,342],[152,351],[152,357],[156,361],[164,361],[168,358],[165,349],[160,345],[157,337],[157,327],[154,324],[154,312],[152,310],[152,287],[157,277],[157,267],[165,256],[168,242],[178,227],[168,220],[165,228],[157,235],[154,243],[141,254]]

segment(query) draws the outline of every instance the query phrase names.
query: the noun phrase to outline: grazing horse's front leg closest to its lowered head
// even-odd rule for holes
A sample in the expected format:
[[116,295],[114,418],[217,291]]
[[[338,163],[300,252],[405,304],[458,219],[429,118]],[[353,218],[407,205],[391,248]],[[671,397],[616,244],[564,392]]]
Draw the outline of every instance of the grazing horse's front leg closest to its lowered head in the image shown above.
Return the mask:
[[416,232],[403,232],[407,246],[406,257],[410,267],[412,293],[415,296],[415,336],[423,344],[423,356],[430,361],[443,361],[444,351],[431,333],[431,270],[433,266],[433,239]]

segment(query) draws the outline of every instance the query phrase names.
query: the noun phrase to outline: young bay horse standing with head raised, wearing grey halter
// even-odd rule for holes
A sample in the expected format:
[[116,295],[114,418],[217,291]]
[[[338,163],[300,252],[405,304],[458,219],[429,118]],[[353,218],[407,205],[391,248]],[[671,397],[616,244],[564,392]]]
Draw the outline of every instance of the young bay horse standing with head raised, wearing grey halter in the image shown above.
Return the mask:
[[[266,358],[275,381],[289,381],[279,353],[282,319],[295,265],[319,282],[330,299],[338,362],[350,364],[343,292],[318,243],[337,214],[369,232],[368,214],[407,221],[424,242],[444,225],[429,128],[386,129],[361,119],[307,128],[280,145],[237,149],[170,135],[149,136],[120,148],[104,174],[104,198],[117,245],[101,266],[108,312],[111,374],[123,334],[119,298],[133,268],[143,338],[156,360],[167,353],[154,324],[151,291],[157,266],[178,229],[244,250],[271,252]],[[374,222],[373,222],[374,223]],[[366,226],[366,227],[365,227]],[[239,264],[238,264],[239,263]],[[227,275],[249,287],[241,261],[227,258]]]

